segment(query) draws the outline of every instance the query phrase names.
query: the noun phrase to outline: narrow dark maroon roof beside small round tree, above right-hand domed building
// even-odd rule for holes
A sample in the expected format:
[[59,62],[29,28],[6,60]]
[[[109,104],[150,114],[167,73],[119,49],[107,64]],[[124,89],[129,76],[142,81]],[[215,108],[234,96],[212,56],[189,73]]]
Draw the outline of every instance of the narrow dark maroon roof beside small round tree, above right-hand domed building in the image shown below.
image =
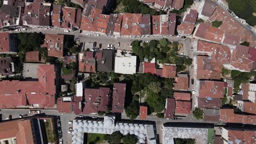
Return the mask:
[[174,110],[175,110],[175,99],[172,98],[167,98],[166,99],[166,104],[165,104],[165,118],[171,119],[174,115]]

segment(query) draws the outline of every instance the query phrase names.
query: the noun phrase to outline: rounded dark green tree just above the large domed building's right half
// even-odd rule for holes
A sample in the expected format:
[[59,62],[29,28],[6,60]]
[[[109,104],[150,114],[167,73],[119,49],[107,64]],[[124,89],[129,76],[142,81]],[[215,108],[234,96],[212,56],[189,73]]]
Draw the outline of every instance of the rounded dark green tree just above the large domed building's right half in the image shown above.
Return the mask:
[[139,115],[139,102],[132,101],[131,105],[125,107],[126,116],[135,119]]

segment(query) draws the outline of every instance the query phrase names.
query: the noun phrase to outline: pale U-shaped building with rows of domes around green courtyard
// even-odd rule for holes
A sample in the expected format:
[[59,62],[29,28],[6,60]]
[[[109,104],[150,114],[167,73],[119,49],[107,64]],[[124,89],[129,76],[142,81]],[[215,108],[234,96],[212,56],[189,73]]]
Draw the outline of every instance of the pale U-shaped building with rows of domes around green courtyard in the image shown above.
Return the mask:
[[139,143],[144,143],[146,139],[149,144],[156,143],[153,125],[115,122],[115,117],[104,116],[104,121],[74,119],[72,144],[84,143],[84,133],[112,134],[114,131],[123,135],[135,134]]

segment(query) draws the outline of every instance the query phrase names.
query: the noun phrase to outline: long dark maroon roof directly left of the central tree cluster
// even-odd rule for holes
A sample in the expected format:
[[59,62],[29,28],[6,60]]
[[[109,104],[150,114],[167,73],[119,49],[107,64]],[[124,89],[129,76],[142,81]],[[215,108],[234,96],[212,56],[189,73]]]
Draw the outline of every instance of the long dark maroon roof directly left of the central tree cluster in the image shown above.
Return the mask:
[[114,83],[112,112],[124,112],[126,83]]

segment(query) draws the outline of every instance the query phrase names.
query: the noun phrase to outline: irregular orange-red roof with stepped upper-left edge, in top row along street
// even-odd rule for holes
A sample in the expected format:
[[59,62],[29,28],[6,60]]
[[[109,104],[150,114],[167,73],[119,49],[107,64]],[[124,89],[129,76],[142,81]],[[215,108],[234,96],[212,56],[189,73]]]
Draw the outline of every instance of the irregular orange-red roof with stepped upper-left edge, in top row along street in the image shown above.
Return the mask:
[[83,31],[97,32],[97,23],[101,13],[101,9],[93,8],[88,17],[82,16],[80,29]]

